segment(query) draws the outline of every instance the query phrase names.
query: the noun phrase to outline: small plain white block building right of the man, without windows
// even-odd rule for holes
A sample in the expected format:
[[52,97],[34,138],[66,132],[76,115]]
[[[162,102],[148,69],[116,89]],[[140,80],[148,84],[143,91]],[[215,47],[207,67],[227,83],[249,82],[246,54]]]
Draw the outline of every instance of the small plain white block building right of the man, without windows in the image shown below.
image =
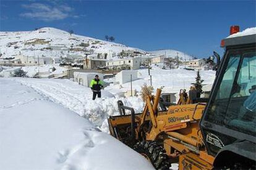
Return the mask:
[[137,70],[122,70],[119,73],[117,73],[116,82],[119,82],[119,84],[130,82],[130,75],[132,75],[132,81],[138,79]]

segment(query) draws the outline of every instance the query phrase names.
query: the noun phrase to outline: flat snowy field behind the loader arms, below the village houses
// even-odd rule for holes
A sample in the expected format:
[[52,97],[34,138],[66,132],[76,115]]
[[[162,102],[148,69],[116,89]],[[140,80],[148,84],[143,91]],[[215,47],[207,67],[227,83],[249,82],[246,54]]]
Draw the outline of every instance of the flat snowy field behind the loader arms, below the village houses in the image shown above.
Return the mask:
[[[132,81],[132,89],[136,89],[140,92],[143,84],[150,85],[150,76],[148,75],[147,69],[138,70],[138,78],[135,81]],[[215,79],[215,71],[200,71],[200,75],[202,76],[203,84],[212,84]],[[153,66],[153,69],[150,70],[150,75],[152,78],[152,86],[155,88],[163,87],[163,92],[179,92],[180,89],[189,90],[191,83],[195,83],[195,77],[197,75],[197,71],[184,70],[181,68],[173,69],[173,70],[163,70],[159,67]],[[114,79],[112,79],[114,81]],[[121,85],[110,84],[110,86],[106,87],[106,90],[113,93],[118,93],[122,91],[126,91],[130,89],[130,83],[124,83]]]

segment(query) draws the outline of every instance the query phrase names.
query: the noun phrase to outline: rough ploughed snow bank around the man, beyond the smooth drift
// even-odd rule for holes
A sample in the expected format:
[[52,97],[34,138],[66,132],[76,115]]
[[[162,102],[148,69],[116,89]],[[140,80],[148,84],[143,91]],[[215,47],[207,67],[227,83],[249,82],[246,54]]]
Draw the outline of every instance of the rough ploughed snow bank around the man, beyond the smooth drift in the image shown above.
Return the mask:
[[[103,123],[105,119],[109,115],[119,114],[117,100],[120,99],[105,90],[101,92],[101,99],[92,100],[90,88],[81,86],[69,79],[13,78],[13,80],[32,87],[38,93],[49,97],[53,102],[87,118],[105,132],[108,132],[107,124]],[[143,102],[139,97],[128,97],[121,100],[124,101],[125,105],[134,107],[137,112],[143,109]]]

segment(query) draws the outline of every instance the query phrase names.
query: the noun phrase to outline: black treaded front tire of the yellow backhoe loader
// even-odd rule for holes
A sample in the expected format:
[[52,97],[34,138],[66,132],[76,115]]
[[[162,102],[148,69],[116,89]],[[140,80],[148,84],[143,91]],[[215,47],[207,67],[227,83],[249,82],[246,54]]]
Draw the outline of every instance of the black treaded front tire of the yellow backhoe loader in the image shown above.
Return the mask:
[[134,145],[134,150],[139,152],[148,161],[153,164],[156,169],[169,169],[171,163],[169,163],[169,158],[165,154],[166,151],[163,145],[156,141],[142,141]]

